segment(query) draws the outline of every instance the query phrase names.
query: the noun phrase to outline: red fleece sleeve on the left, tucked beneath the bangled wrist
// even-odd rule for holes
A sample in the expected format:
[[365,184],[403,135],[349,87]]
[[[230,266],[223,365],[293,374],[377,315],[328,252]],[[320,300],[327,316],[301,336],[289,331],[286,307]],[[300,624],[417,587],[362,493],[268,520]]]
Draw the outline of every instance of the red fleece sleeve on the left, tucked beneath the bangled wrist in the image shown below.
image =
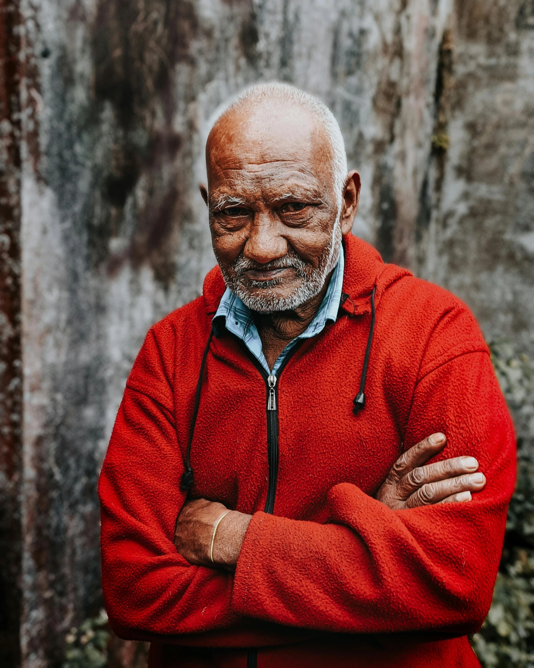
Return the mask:
[[127,381],[99,480],[102,586],[125,638],[227,626],[232,576],[192,566],[174,546],[184,470],[164,342],[151,331]]

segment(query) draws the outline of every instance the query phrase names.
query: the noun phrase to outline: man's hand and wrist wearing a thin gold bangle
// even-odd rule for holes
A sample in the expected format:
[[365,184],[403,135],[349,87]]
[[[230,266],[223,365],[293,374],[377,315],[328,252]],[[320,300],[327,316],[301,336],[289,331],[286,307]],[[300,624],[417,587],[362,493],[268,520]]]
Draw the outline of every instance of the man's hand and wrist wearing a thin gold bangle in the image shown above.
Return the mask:
[[235,570],[239,552],[252,515],[230,510],[217,527],[213,544],[213,562],[210,547],[217,520],[228,508],[216,501],[195,499],[184,504],[174,534],[176,549],[190,564]]

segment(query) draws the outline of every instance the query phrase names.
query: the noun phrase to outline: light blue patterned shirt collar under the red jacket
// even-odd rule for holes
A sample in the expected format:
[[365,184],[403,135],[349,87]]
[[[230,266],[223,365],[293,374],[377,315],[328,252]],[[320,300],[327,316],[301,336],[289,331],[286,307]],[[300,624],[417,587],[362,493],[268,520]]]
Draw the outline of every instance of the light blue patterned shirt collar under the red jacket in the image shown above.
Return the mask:
[[314,319],[310,322],[308,327],[299,334],[298,337],[293,339],[282,352],[280,356],[274,363],[272,371],[269,369],[265,355],[263,354],[262,340],[258,333],[258,329],[254,324],[254,318],[252,317],[252,311],[244,305],[244,303],[236,297],[230,289],[226,288],[224,295],[220,301],[217,313],[214,315],[214,321],[217,318],[224,318],[226,321],[226,329],[235,334],[236,337],[239,337],[246,347],[250,350],[252,355],[256,357],[258,362],[264,367],[267,373],[272,373],[276,376],[280,365],[286,359],[287,355],[295,347],[299,339],[310,339],[311,337],[317,335],[320,331],[324,329],[324,326],[328,321],[335,323],[338,317],[338,310],[341,301],[342,287],[343,287],[343,272],[344,272],[344,257],[343,249],[341,249],[339,254],[339,260],[334,268],[334,273],[330,278],[330,283],[328,284],[328,290],[326,295],[321,302],[319,310],[315,314]]

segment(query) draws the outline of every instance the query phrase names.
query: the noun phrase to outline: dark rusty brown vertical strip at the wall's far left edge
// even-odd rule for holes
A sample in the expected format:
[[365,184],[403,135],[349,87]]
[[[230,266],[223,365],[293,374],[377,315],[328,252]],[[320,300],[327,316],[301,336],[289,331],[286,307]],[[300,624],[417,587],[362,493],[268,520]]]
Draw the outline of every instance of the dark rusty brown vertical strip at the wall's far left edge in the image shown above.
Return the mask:
[[21,617],[21,253],[17,0],[0,0],[0,653],[17,668]]

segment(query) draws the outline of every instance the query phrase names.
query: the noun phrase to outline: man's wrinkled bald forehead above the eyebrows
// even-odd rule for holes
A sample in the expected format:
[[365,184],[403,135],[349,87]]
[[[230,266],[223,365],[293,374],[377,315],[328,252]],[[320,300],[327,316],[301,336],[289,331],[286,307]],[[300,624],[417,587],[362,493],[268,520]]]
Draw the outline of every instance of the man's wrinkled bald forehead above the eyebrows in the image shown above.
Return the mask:
[[226,112],[206,144],[208,189],[274,196],[312,189],[328,196],[334,193],[330,154],[326,129],[307,110],[266,104]]

